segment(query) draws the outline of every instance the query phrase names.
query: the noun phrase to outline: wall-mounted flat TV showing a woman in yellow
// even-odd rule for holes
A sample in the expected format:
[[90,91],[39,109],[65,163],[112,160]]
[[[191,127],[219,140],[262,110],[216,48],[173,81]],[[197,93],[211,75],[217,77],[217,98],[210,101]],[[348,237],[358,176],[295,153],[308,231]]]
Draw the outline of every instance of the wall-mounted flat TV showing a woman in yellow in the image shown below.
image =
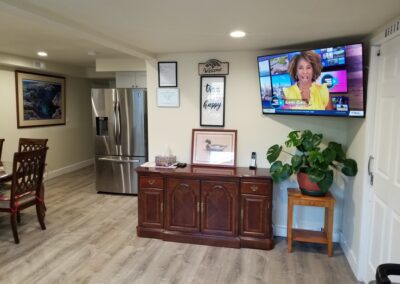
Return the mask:
[[365,116],[363,46],[258,57],[262,112]]

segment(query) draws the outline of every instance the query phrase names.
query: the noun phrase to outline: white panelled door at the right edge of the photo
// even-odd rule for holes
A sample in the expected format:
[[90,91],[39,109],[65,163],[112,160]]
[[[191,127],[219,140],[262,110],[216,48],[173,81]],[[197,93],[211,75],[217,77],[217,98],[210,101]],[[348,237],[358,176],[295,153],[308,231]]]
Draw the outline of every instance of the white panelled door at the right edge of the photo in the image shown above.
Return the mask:
[[380,51],[376,106],[368,106],[376,114],[367,281],[379,264],[400,264],[400,37]]

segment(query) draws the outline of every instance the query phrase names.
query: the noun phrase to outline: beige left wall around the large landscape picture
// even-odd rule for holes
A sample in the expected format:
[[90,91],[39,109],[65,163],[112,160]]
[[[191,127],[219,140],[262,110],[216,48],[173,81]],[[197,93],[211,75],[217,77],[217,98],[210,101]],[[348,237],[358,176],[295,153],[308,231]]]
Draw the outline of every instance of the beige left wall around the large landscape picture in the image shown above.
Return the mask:
[[[66,125],[17,129],[14,71],[0,69],[0,137],[6,139],[2,159],[11,161],[18,139],[48,138],[47,172],[51,177],[93,159],[90,83],[66,77]],[[49,177],[48,176],[48,177]]]

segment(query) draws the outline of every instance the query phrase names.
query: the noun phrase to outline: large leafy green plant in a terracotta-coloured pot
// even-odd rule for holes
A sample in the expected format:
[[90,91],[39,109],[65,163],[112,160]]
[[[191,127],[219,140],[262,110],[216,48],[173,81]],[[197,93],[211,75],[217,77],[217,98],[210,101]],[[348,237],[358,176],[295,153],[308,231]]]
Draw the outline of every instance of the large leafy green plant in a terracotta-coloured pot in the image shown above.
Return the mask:
[[[346,176],[357,174],[357,162],[346,158],[341,144],[329,142],[325,149],[319,147],[322,134],[314,134],[310,130],[292,131],[288,138],[285,141],[286,147],[295,147],[296,153],[284,151],[279,145],[271,146],[267,152],[271,176],[275,182],[297,174],[303,194],[323,196],[333,183],[333,170],[340,170]],[[282,152],[292,156],[290,163],[278,160]]]

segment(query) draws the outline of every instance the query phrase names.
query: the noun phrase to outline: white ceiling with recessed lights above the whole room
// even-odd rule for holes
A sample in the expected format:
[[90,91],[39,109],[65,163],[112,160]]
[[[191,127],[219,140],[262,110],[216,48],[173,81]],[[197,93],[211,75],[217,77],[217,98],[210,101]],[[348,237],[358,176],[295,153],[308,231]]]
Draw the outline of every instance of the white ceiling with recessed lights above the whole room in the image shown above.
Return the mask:
[[[99,58],[263,50],[360,39],[400,0],[0,0],[0,53],[93,67]],[[244,39],[229,32],[241,29]]]

